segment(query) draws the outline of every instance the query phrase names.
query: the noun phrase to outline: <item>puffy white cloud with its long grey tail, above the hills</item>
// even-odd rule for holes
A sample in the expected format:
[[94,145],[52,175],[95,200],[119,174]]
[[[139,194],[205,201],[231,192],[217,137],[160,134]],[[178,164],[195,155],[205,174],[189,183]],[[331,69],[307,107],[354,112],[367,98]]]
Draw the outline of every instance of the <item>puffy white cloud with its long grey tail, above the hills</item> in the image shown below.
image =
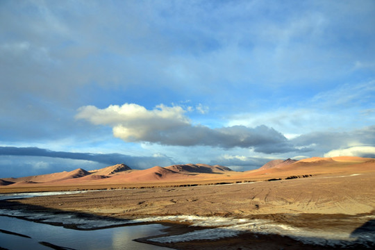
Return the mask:
[[77,119],[113,128],[113,135],[126,142],[151,142],[171,146],[210,146],[229,149],[253,148],[262,153],[294,151],[282,133],[265,125],[209,128],[192,124],[180,106],[156,106],[147,110],[135,103],[79,108]]

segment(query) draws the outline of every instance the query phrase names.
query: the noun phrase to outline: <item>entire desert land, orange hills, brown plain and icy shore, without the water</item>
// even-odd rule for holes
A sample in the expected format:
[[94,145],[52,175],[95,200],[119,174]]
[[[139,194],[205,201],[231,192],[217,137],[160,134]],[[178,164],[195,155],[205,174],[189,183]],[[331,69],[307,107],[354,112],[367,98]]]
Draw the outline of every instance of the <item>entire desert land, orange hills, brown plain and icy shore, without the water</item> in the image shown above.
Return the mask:
[[[372,158],[273,160],[248,172],[119,164],[2,178],[0,185],[1,194],[102,190],[8,199],[0,208],[163,223],[171,226],[166,240],[138,240],[173,249],[370,249],[375,241]],[[185,240],[173,240],[176,235]]]

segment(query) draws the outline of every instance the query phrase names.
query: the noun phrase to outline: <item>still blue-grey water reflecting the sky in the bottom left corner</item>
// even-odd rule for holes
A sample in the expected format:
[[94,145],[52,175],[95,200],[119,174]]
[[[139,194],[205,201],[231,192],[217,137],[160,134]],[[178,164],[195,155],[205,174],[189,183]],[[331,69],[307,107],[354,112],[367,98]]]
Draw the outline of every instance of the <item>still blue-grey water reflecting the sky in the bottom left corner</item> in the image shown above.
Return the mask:
[[[167,250],[169,248],[156,247],[133,241],[136,238],[160,234],[165,226],[160,224],[122,226],[93,231],[77,231],[62,226],[51,226],[28,222],[14,217],[0,216],[0,229],[28,235],[23,238],[0,232],[0,247],[6,249],[51,249],[38,242],[51,244],[71,249],[128,249],[128,250]],[[169,249],[170,250],[170,249]]]

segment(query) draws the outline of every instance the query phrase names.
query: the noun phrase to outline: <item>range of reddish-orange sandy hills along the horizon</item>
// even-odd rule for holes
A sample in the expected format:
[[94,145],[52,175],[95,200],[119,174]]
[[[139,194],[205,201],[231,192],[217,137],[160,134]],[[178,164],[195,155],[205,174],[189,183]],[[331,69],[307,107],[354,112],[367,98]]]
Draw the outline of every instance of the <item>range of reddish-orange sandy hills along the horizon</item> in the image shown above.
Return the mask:
[[[101,185],[132,187],[142,185],[172,185],[173,183],[235,183],[269,181],[310,176],[344,176],[374,172],[375,159],[340,156],[333,158],[306,158],[303,160],[272,160],[259,169],[235,172],[220,165],[185,164],[149,169],[131,169],[124,164],[92,170],[75,169],[71,172],[3,178],[1,188],[33,186]],[[164,184],[163,184],[164,183]],[[179,184],[179,185],[180,185]]]

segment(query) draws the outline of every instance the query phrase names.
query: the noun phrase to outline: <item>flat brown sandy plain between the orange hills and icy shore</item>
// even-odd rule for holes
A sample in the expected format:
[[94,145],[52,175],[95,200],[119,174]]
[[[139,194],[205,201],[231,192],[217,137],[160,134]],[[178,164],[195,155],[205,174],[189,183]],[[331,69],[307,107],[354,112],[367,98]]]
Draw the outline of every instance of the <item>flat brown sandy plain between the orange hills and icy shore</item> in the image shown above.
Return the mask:
[[375,172],[349,176],[295,178],[233,185],[144,188],[35,197],[17,203],[113,215],[202,215],[252,217],[281,213],[371,213]]

